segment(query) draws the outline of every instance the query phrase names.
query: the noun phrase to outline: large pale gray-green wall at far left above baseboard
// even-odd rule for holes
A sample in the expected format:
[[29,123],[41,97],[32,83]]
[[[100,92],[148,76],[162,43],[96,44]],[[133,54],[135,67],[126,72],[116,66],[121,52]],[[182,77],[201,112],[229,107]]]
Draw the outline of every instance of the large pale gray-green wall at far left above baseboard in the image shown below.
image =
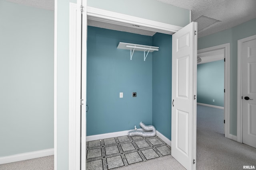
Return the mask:
[[0,0],[0,156],[54,148],[54,11]]

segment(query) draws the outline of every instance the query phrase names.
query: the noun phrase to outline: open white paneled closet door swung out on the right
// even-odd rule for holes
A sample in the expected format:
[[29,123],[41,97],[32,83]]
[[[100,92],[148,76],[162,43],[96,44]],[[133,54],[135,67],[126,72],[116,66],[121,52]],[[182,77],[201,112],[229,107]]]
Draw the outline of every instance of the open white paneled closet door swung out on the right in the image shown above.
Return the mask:
[[172,156],[196,169],[197,23],[172,35]]

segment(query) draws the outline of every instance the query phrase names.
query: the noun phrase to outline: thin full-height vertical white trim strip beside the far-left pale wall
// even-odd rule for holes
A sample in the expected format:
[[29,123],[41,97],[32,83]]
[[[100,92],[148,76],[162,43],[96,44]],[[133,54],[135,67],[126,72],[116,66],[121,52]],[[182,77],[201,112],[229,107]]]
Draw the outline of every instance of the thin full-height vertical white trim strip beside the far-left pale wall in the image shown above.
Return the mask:
[[57,33],[58,0],[54,0],[54,170],[57,170]]

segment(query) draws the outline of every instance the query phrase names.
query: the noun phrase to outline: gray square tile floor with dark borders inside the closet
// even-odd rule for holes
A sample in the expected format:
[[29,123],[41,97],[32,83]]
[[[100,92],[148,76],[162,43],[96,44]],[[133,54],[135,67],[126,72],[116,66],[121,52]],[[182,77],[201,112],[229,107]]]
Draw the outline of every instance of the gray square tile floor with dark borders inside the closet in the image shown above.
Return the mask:
[[86,142],[86,170],[110,170],[171,154],[159,137],[121,136]]

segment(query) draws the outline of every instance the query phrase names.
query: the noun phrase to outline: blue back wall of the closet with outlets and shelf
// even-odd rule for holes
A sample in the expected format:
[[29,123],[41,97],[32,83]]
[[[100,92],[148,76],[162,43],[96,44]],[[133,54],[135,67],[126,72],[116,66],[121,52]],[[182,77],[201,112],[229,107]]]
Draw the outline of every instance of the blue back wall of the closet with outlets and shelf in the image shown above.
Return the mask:
[[88,26],[87,136],[152,124],[152,53],[144,61],[134,51],[131,61],[119,42],[152,45],[152,37]]

